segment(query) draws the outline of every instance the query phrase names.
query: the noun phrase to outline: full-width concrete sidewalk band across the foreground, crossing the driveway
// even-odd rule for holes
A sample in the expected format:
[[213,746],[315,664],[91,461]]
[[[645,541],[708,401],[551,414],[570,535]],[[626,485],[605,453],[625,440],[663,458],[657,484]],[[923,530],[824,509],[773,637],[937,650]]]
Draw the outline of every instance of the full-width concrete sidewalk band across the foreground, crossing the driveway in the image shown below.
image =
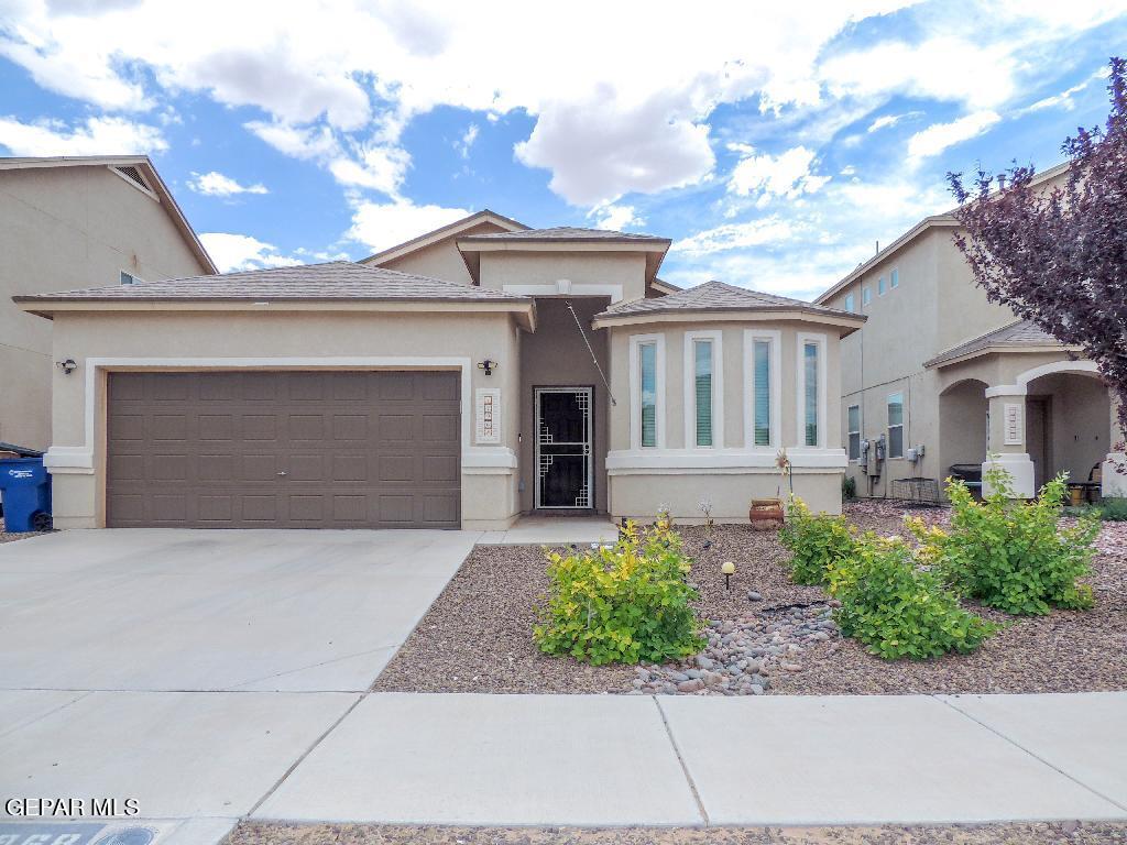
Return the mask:
[[[37,795],[134,797],[148,818],[165,820],[168,843],[218,842],[239,818],[580,827],[1127,819],[1127,693],[7,695],[18,695],[8,704],[23,718],[0,736],[0,792],[24,795],[34,784]],[[254,722],[250,733],[224,727]]]

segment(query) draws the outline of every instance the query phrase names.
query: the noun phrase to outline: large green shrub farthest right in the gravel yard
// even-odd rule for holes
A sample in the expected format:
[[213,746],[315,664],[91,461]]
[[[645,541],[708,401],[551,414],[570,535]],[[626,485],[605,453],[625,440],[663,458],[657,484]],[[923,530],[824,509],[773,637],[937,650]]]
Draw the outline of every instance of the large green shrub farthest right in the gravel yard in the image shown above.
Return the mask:
[[1065,475],[1041,488],[1030,502],[1014,501],[1010,475],[986,473],[992,493],[975,501],[960,481],[948,481],[949,532],[907,521],[921,553],[948,584],[990,607],[1015,615],[1044,615],[1056,607],[1092,606],[1092,588],[1077,579],[1091,571],[1099,519],[1081,517],[1059,528]]

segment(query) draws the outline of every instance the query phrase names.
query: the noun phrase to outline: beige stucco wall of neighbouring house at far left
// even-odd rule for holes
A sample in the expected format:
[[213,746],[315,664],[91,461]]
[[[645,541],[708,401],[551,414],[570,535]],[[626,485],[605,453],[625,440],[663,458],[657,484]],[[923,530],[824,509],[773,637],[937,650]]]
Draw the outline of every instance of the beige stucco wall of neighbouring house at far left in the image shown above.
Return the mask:
[[104,166],[0,171],[0,441],[51,441],[51,323],[17,294],[205,273],[160,203]]

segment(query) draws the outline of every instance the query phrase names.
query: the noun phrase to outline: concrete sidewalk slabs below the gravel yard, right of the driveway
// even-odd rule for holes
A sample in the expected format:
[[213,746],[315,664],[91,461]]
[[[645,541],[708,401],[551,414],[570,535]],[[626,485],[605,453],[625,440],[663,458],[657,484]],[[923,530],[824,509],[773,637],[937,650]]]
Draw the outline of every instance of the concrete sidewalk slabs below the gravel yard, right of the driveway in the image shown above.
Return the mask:
[[497,826],[1125,819],[1125,715],[1127,693],[387,693],[369,695],[252,816]]

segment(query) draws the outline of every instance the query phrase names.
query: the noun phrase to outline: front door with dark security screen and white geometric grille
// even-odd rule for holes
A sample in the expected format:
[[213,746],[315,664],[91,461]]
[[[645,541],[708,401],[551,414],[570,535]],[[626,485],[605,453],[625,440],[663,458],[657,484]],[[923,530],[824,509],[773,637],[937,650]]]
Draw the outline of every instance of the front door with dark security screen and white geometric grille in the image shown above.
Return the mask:
[[538,508],[592,506],[591,388],[536,388]]

